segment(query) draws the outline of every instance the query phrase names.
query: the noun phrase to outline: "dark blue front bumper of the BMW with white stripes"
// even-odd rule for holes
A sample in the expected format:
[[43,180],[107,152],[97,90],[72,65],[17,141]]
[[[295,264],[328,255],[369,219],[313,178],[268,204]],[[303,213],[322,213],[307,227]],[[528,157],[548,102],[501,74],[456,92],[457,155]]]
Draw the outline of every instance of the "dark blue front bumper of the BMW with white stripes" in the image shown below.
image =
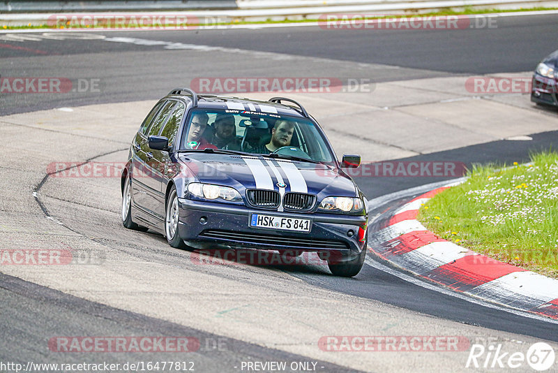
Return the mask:
[[[296,214],[251,209],[225,203],[179,198],[179,235],[188,246],[198,249],[254,248],[278,251],[315,251],[335,262],[349,261],[366,249],[359,228],[367,228],[368,216]],[[249,226],[252,213],[277,217],[312,219],[309,233],[277,231]],[[203,218],[203,219],[202,219]],[[365,235],[364,235],[365,237]]]

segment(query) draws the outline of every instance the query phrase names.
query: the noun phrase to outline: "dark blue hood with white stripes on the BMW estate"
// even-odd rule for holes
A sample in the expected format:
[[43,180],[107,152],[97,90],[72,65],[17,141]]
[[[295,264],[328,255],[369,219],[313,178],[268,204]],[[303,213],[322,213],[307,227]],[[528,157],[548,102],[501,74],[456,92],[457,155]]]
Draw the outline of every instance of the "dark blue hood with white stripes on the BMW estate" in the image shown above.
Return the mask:
[[323,164],[229,154],[179,154],[199,182],[246,189],[273,189],[326,196],[356,196],[356,186],[346,175]]

